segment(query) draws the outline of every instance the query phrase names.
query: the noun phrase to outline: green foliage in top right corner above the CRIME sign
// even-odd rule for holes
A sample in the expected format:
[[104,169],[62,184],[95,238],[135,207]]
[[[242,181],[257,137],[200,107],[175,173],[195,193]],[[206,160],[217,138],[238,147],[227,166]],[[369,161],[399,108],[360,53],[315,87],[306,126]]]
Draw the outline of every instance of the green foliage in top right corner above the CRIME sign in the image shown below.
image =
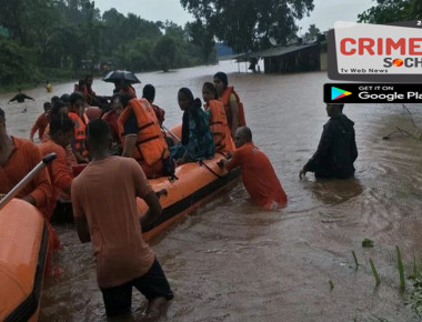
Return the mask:
[[358,14],[359,22],[389,23],[409,21],[422,17],[420,0],[376,0],[376,6]]

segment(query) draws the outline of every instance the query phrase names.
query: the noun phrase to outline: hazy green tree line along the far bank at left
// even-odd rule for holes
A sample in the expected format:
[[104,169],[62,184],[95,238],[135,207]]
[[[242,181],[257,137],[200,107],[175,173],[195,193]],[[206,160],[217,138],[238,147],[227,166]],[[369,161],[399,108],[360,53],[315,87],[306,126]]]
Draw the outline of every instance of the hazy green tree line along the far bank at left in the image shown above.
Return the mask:
[[66,78],[111,63],[132,71],[215,61],[214,40],[201,49],[199,26],[148,21],[89,0],[0,0],[0,87]]

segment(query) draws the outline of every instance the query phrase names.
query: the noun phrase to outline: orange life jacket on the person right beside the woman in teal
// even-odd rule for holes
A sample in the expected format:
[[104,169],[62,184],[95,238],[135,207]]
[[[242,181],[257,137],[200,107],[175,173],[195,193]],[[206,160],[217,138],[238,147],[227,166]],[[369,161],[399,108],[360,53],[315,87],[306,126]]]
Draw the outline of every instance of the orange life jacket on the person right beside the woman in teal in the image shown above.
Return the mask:
[[205,111],[211,110],[210,127],[214,137],[215,152],[234,151],[228,118],[222,102],[211,100],[205,104]]

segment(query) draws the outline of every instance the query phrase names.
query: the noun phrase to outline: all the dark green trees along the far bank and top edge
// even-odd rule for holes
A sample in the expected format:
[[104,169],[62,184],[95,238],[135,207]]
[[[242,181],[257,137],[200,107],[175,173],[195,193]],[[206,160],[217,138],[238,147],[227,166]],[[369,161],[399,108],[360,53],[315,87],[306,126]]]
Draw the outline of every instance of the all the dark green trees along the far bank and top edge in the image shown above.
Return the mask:
[[[215,39],[237,53],[285,44],[313,0],[180,0],[194,21],[148,21],[90,0],[0,0],[0,87],[66,76],[87,62],[132,71],[169,70],[215,61]],[[358,20],[422,17],[421,0],[376,0]],[[313,30],[312,30],[313,28]],[[319,30],[312,26],[309,36]],[[7,31],[7,32],[6,32]]]

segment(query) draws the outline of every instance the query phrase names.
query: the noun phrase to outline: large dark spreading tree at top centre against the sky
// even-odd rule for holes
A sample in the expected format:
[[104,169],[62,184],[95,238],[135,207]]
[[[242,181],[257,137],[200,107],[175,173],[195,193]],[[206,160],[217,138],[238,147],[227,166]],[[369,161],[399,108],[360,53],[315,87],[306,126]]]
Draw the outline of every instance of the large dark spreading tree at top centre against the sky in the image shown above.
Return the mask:
[[237,52],[285,43],[313,0],[181,0],[181,4]]

